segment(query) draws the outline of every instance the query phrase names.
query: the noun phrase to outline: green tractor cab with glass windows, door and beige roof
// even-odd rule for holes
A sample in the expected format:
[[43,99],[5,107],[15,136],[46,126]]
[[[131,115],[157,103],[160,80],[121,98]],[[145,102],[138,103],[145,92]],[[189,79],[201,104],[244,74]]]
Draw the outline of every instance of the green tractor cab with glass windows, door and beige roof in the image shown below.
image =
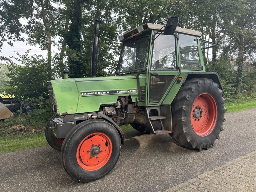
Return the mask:
[[123,47],[116,75],[136,74],[142,106],[162,103],[173,86],[179,87],[175,84],[180,84],[187,72],[205,72],[201,34],[176,26],[170,34],[165,32],[166,26],[146,23],[120,36]]

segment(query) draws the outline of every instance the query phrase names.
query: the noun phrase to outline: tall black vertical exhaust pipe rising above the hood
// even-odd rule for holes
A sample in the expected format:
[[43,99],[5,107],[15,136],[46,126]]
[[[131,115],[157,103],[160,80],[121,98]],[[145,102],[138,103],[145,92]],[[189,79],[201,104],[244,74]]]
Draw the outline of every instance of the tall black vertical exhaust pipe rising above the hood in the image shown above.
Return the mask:
[[95,77],[97,66],[98,66],[98,55],[99,55],[99,25],[103,24],[104,22],[101,20],[95,21],[95,33],[94,33],[94,40],[92,44],[92,77]]

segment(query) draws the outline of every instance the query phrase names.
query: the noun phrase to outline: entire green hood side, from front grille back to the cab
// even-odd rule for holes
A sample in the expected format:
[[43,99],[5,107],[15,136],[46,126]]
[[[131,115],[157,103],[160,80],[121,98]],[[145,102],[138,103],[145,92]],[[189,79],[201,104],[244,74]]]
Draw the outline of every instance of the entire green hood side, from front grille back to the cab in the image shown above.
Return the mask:
[[119,96],[138,95],[136,76],[109,76],[52,80],[59,114],[99,111],[100,105],[116,103]]

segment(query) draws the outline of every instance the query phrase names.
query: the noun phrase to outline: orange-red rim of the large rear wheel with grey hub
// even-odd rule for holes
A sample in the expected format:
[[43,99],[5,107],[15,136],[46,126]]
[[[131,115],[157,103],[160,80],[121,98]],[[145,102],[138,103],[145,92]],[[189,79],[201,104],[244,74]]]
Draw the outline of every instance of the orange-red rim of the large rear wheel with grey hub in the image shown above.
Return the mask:
[[213,96],[209,93],[200,94],[192,105],[190,121],[193,130],[199,136],[205,137],[214,129],[218,110]]

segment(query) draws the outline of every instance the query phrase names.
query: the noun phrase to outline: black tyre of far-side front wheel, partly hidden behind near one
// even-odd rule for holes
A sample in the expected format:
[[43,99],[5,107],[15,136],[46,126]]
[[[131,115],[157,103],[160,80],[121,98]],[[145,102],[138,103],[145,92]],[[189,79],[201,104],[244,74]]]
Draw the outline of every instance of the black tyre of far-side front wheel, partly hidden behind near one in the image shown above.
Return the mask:
[[60,138],[55,137],[53,132],[52,132],[52,129],[50,129],[50,126],[51,126],[50,121],[52,119],[54,119],[55,117],[56,117],[56,115],[52,116],[51,119],[46,124],[46,127],[45,127],[45,138],[46,138],[48,144],[52,148],[60,151],[64,139],[60,139]]

